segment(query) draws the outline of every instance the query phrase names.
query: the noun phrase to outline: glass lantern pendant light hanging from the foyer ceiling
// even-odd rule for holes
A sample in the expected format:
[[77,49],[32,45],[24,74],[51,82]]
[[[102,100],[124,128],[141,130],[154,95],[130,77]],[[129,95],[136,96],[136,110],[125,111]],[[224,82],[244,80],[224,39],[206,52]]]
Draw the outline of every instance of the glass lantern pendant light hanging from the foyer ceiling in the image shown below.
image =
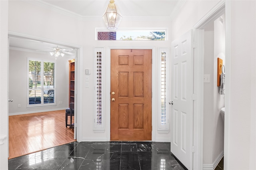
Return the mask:
[[102,16],[108,30],[116,30],[121,22],[122,16],[114,0],[110,0],[104,15]]

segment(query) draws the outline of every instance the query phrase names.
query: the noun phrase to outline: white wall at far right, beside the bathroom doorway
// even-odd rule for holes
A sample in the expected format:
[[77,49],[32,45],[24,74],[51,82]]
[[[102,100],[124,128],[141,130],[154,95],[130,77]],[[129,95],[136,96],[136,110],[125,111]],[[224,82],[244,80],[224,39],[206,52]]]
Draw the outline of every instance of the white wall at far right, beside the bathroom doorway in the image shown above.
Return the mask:
[[230,87],[226,87],[230,88],[230,98],[225,101],[229,102],[230,113],[225,114],[225,123],[226,118],[229,121],[229,140],[225,141],[228,146],[226,169],[256,169],[256,1],[230,3],[231,65],[230,75],[227,75],[230,76]]

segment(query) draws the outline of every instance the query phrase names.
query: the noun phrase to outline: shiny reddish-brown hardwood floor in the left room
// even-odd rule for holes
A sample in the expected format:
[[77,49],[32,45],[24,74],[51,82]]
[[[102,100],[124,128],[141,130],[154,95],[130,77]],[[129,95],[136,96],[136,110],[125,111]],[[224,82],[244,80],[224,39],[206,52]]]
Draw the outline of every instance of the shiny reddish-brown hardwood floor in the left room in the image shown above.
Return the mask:
[[65,119],[65,110],[9,116],[9,159],[76,141]]

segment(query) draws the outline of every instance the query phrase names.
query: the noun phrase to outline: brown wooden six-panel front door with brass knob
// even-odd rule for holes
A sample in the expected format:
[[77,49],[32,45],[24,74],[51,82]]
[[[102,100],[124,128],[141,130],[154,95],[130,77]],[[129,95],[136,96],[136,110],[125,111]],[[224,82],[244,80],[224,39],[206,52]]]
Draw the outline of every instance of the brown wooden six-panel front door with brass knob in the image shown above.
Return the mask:
[[151,140],[152,50],[111,50],[110,140]]

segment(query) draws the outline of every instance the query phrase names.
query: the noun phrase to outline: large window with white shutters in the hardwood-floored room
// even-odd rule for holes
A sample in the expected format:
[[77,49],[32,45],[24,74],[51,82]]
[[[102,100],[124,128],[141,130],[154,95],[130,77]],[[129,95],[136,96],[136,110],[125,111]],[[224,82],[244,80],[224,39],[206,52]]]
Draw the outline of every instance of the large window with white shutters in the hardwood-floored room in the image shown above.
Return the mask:
[[56,105],[55,69],[55,62],[28,59],[27,107]]

